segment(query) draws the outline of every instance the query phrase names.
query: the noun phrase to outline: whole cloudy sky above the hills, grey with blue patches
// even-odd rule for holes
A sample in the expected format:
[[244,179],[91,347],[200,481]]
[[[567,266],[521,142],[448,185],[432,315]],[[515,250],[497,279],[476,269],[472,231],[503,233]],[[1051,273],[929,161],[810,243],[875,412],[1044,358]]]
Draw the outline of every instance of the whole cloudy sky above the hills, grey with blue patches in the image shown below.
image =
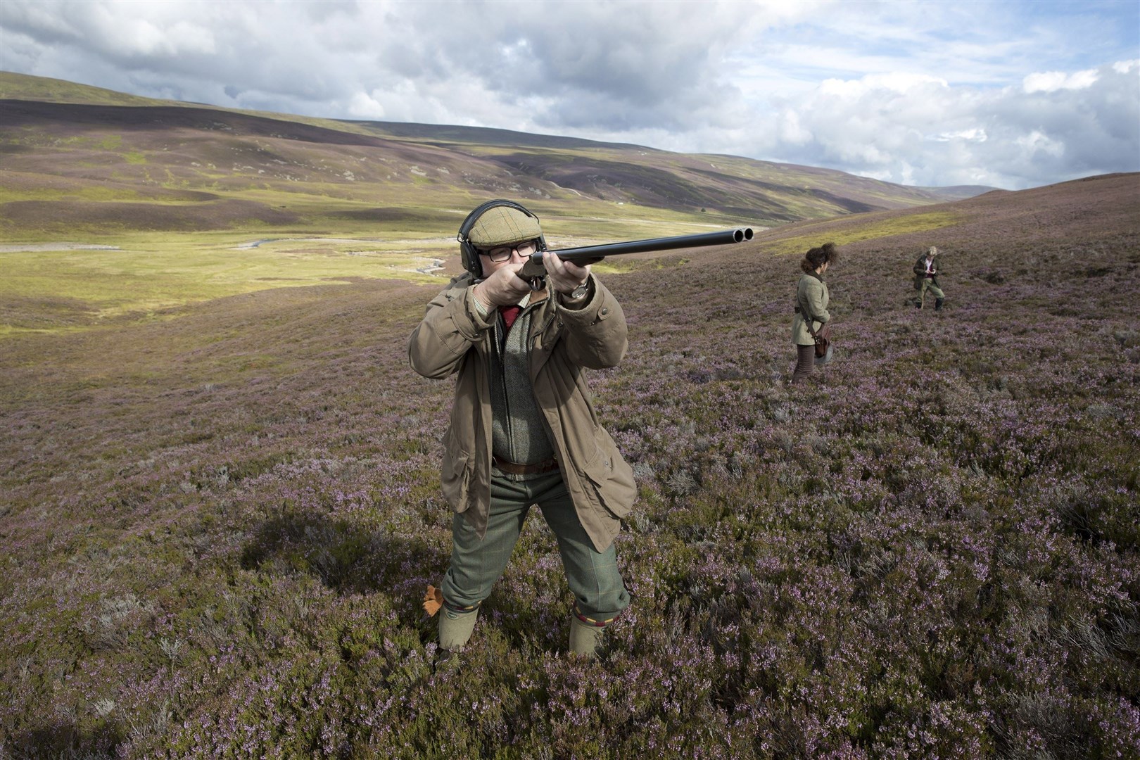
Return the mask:
[[0,0],[0,70],[905,185],[1140,171],[1137,0]]

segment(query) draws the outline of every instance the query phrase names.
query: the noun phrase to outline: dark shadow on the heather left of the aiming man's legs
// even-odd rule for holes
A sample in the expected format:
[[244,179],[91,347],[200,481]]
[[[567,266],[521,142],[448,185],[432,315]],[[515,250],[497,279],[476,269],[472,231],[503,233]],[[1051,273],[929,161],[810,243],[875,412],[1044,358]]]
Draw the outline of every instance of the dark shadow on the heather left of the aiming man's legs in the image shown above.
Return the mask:
[[256,529],[241,563],[269,573],[308,572],[337,594],[402,594],[409,582],[438,575],[449,550],[449,544],[363,529],[347,518],[284,513]]

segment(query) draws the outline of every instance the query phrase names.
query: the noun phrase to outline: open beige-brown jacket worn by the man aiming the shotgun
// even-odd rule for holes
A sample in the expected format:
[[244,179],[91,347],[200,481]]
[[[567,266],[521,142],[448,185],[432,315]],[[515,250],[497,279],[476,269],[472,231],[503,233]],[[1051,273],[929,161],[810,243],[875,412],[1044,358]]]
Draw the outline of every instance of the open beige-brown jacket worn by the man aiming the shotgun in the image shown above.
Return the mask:
[[[637,487],[633,469],[597,422],[583,371],[616,366],[628,348],[620,304],[591,277],[593,295],[581,309],[567,309],[545,292],[531,296],[538,303],[530,320],[530,381],[578,518],[594,547],[604,551],[637,498]],[[490,510],[487,361],[496,314],[479,314],[474,283],[471,275],[461,275],[431,300],[408,341],[408,360],[424,377],[457,376],[440,481],[451,508],[482,537]]]

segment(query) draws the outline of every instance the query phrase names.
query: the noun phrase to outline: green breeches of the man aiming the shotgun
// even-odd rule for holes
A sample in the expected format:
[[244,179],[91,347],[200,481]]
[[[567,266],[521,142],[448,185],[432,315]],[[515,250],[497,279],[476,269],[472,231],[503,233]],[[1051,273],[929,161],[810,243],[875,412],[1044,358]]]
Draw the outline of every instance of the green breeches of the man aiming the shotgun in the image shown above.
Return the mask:
[[531,505],[538,505],[559,542],[576,612],[594,624],[612,620],[629,606],[617,551],[597,551],[578,520],[557,471],[526,480],[494,475],[487,534],[482,540],[462,514],[451,520],[451,566],[443,577],[445,603],[457,611],[479,606],[503,575]]

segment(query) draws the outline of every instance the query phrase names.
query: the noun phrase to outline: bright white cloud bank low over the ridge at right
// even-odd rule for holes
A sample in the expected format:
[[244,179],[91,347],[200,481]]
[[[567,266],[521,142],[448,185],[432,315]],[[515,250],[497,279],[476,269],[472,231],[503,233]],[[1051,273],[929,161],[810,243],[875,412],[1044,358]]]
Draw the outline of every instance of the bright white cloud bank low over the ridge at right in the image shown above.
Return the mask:
[[[781,103],[779,126],[735,153],[918,185],[1029,187],[1140,170],[1140,77],[1108,65],[1026,91],[931,76],[828,80]],[[1085,83],[1088,82],[1088,83]]]

